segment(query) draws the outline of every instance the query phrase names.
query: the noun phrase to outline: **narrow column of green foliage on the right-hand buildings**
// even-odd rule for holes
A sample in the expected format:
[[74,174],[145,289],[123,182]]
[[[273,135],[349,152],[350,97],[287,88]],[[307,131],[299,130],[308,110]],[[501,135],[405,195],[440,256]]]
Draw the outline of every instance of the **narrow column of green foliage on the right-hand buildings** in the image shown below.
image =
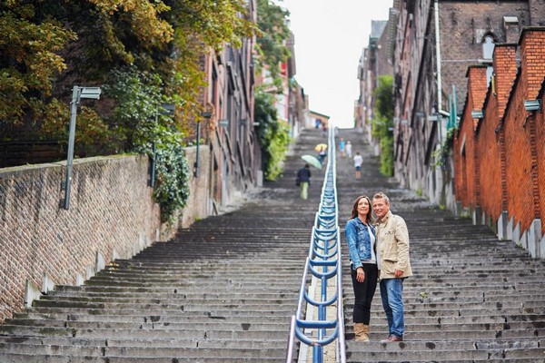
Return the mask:
[[375,89],[375,116],[372,120],[372,136],[379,139],[381,146],[381,173],[393,176],[393,95],[390,74],[379,76]]

